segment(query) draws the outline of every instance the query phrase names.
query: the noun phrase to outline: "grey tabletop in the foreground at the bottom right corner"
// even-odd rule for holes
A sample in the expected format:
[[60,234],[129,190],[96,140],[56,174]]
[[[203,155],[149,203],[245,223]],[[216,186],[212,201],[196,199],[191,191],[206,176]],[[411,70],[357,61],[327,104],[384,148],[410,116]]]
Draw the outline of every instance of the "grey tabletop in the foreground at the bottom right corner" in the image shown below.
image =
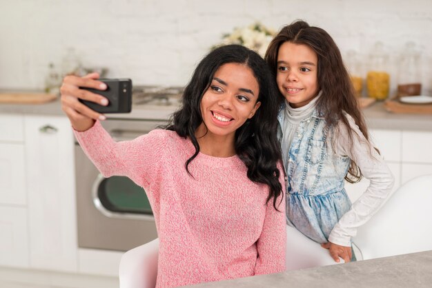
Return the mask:
[[189,287],[431,287],[432,251],[315,267]]

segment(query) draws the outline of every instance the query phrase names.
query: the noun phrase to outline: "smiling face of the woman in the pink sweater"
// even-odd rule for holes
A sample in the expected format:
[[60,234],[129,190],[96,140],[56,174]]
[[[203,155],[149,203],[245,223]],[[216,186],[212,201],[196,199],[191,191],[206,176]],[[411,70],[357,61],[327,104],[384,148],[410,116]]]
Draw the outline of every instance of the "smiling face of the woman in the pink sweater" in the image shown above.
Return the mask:
[[[235,138],[235,130],[257,111],[259,84],[251,68],[238,63],[222,65],[201,100],[202,119],[208,136]],[[204,123],[198,132],[206,131]],[[201,133],[199,133],[201,134]],[[197,135],[199,136],[199,135]]]

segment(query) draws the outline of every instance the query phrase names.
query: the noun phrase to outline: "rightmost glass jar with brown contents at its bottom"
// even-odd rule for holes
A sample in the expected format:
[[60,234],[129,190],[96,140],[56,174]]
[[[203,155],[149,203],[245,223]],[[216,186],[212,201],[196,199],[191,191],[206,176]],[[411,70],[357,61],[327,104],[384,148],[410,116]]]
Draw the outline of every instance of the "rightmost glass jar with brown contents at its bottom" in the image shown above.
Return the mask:
[[415,43],[407,42],[400,55],[397,73],[397,96],[420,95],[421,83],[420,52],[415,50]]

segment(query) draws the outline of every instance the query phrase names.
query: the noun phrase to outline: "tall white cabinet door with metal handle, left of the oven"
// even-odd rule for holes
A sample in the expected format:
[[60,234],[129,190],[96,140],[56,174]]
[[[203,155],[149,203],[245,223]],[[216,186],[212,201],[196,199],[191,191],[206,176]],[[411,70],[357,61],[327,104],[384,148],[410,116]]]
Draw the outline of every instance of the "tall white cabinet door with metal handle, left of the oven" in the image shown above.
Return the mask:
[[26,116],[30,265],[77,271],[74,141],[66,117]]

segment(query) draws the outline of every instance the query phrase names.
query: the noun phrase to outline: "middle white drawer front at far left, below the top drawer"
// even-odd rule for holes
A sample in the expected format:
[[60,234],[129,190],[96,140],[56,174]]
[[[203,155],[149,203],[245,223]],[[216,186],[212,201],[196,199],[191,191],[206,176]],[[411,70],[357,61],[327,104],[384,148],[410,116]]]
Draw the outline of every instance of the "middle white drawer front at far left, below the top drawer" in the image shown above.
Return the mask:
[[24,145],[0,143],[0,204],[26,205]]

